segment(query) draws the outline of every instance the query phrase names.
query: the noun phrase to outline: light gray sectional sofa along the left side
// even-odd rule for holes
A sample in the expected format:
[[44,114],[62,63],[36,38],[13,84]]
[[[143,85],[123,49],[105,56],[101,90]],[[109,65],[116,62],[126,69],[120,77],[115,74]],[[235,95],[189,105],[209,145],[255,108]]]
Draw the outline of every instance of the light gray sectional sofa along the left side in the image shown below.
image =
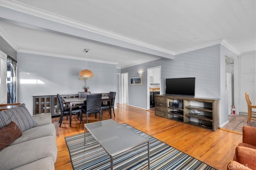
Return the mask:
[[[0,129],[1,123],[3,128],[6,126],[3,121],[10,119],[9,122],[14,121],[22,131],[22,136],[0,150],[0,169],[54,170],[54,163],[57,158],[57,145],[56,129],[52,124],[51,114],[30,115],[32,119],[29,115],[26,115],[27,118],[24,118],[22,114],[19,114],[19,112],[24,110],[28,112],[26,107],[24,109],[24,106],[23,104],[23,106],[11,108],[14,110],[0,111]],[[13,113],[19,117],[9,116]],[[20,117],[20,115],[23,117]],[[31,123],[30,121],[33,122],[30,127],[25,129],[22,126],[26,126],[28,123],[24,123],[24,119],[27,119],[28,123]]]

